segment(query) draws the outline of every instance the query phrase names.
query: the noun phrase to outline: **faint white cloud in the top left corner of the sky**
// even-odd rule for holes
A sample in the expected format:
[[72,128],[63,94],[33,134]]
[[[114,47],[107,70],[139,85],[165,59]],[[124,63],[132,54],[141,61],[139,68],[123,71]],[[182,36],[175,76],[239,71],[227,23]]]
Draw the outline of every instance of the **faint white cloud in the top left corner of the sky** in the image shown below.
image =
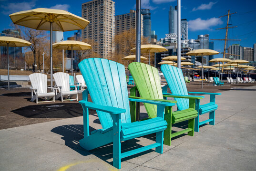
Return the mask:
[[19,12],[23,10],[31,10],[36,5],[35,1],[31,2],[16,2],[16,3],[7,3],[1,5],[1,13],[4,15],[10,15],[14,12]]

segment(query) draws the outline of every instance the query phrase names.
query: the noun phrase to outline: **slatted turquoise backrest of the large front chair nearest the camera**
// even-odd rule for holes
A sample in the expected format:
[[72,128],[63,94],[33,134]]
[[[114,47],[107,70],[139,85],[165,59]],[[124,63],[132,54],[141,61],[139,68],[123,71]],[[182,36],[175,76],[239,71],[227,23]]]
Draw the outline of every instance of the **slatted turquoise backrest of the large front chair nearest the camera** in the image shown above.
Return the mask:
[[[92,102],[126,109],[122,123],[131,123],[125,69],[122,64],[102,58],[88,58],[79,68],[89,90]],[[111,115],[97,111],[102,128],[113,126]]]

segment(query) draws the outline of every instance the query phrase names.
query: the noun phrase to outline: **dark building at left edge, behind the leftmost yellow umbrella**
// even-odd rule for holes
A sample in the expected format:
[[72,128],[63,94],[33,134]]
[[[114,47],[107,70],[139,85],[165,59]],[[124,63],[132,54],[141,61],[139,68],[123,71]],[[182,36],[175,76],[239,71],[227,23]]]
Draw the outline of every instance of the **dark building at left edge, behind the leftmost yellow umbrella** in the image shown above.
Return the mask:
[[[20,38],[20,30],[7,29],[0,33],[0,36]],[[7,47],[0,47],[1,68],[7,68]],[[24,66],[24,57],[22,57],[22,47],[9,47],[10,67],[17,68],[18,64]]]

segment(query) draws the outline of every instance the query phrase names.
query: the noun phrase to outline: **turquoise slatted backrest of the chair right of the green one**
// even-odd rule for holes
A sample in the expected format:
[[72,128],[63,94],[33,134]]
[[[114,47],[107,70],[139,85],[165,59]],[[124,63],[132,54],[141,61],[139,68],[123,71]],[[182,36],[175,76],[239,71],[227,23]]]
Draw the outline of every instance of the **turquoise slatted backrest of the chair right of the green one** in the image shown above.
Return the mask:
[[[188,95],[186,83],[182,70],[170,65],[162,65],[161,70],[168,83],[168,86],[172,94],[176,95]],[[177,101],[178,110],[184,110],[189,107],[189,100],[185,98],[174,98]]]

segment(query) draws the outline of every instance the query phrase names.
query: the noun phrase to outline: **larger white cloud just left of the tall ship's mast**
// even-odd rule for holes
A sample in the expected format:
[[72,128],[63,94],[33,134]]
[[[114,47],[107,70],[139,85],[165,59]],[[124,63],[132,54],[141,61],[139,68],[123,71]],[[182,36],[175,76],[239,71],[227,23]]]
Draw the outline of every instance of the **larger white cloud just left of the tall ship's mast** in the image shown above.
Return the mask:
[[211,18],[211,19],[194,19],[188,21],[188,28],[191,31],[197,31],[197,30],[211,30],[212,26],[216,26],[219,24],[222,24],[223,21],[220,18]]

